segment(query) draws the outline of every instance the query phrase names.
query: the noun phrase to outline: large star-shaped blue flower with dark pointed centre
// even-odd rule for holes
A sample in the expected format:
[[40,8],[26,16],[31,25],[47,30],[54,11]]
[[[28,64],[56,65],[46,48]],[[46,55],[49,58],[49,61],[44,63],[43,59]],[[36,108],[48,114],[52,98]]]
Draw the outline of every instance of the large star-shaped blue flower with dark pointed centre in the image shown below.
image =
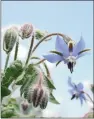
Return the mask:
[[86,51],[90,50],[85,49],[85,42],[82,36],[80,41],[75,45],[73,44],[73,41],[70,41],[67,45],[62,38],[57,36],[55,49],[56,51],[51,51],[52,54],[43,55],[43,57],[51,63],[58,62],[59,64],[61,61],[64,61],[71,73],[73,72],[76,60],[87,54]]

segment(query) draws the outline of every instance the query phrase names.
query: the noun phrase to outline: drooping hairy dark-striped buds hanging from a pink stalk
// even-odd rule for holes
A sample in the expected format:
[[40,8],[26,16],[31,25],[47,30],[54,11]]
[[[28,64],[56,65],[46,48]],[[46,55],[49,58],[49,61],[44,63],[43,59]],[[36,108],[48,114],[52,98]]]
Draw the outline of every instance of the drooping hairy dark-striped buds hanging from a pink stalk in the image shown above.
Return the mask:
[[45,109],[48,103],[48,89],[43,84],[43,74],[40,73],[40,78],[37,83],[34,84],[32,91],[29,89],[28,93],[28,101],[29,103],[33,103],[34,107],[38,107],[40,105],[41,109]]

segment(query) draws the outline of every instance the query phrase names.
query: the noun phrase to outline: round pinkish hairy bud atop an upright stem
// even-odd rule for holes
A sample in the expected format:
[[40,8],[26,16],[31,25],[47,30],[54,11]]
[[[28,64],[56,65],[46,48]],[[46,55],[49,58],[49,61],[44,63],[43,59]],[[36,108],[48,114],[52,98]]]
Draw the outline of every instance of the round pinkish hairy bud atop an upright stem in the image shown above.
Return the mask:
[[20,37],[22,39],[29,38],[33,33],[33,25],[32,24],[24,24],[20,29]]

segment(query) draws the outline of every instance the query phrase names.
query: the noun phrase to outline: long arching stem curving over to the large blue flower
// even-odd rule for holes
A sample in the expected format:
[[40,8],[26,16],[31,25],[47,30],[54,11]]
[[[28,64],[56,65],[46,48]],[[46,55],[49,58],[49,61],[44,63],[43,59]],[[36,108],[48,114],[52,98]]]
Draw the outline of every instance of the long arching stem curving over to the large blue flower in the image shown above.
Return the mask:
[[[37,47],[38,47],[46,38],[51,37],[51,36],[55,36],[55,35],[59,35],[59,36],[63,37],[64,40],[66,39],[66,35],[64,35],[64,34],[61,34],[61,33],[51,33],[51,34],[45,36],[43,39],[41,39],[41,40],[35,45],[35,47],[34,47],[33,50],[32,50],[32,53],[37,49]],[[65,42],[68,43],[70,40],[72,40],[72,39],[69,38],[69,37],[67,37],[67,39],[65,40]]]

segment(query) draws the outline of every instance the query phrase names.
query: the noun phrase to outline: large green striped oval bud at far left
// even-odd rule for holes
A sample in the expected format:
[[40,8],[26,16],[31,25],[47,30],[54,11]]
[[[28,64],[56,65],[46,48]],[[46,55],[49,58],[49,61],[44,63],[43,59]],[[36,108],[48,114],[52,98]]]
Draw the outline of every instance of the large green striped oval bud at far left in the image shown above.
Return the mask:
[[3,49],[6,53],[9,53],[12,51],[16,40],[18,38],[18,32],[16,27],[11,27],[6,30],[4,34],[4,40],[3,40]]

